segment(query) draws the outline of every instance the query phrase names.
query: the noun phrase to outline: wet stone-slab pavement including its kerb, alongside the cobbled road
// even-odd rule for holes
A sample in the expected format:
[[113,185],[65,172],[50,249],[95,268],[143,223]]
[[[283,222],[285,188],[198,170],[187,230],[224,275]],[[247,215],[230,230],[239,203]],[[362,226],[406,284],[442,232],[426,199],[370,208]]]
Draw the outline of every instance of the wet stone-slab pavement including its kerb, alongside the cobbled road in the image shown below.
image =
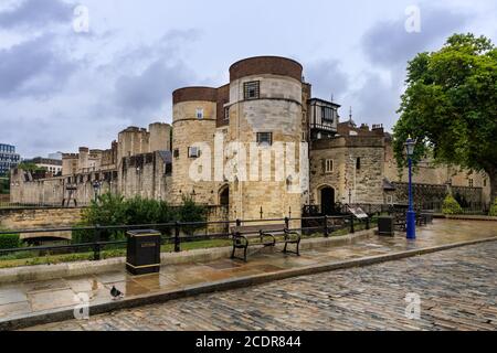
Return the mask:
[[[420,229],[415,242],[404,237],[371,236],[356,244],[305,252],[302,257],[271,249],[250,256],[247,264],[222,259],[170,265],[160,275],[133,277],[125,270],[0,286],[0,329],[14,329],[52,320],[66,320],[76,293],[87,293],[92,313],[225,290],[318,271],[363,266],[415,256],[452,246],[497,237],[493,222],[436,220]],[[440,248],[442,247],[442,248]],[[126,298],[114,301],[116,286]],[[72,300],[71,300],[72,297]]]

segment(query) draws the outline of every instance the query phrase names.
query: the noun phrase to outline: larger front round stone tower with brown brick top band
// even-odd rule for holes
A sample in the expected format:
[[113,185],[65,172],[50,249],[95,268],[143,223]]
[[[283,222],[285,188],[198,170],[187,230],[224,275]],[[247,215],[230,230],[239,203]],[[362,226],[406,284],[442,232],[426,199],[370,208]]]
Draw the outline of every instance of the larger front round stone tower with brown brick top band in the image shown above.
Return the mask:
[[246,163],[239,158],[231,165],[230,218],[300,217],[302,73],[299,63],[277,56],[246,58],[230,68],[226,142],[246,153]]

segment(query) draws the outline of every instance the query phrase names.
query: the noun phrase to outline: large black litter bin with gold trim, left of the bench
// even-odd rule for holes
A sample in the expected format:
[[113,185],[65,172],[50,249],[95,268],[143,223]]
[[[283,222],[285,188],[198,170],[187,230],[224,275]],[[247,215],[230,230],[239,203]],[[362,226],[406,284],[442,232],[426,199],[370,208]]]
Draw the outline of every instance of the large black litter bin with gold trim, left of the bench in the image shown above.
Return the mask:
[[126,269],[133,275],[160,271],[160,232],[129,231]]

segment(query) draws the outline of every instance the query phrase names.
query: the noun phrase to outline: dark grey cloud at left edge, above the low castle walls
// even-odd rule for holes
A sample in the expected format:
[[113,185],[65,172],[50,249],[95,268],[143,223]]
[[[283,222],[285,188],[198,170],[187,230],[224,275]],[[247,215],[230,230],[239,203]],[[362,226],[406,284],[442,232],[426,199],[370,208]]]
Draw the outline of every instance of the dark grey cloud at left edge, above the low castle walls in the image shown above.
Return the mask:
[[54,51],[54,39],[36,39],[0,50],[0,97],[43,95],[62,87],[76,64]]

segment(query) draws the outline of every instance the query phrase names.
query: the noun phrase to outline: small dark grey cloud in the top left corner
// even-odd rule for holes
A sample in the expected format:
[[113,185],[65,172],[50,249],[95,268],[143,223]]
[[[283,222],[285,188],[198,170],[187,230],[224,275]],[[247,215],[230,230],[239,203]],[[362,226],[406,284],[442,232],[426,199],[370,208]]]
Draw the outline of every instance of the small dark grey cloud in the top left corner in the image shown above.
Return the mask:
[[0,28],[44,28],[49,23],[70,21],[74,6],[61,0],[23,0],[0,12]]

